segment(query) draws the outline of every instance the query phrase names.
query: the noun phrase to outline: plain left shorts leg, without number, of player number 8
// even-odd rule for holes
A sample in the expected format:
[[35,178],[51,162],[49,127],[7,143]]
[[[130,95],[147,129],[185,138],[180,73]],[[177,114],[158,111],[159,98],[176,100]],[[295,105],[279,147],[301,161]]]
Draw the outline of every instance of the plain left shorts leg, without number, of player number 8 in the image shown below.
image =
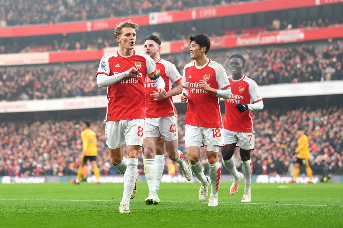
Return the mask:
[[106,145],[110,149],[117,149],[125,143],[122,120],[106,121],[105,125]]

